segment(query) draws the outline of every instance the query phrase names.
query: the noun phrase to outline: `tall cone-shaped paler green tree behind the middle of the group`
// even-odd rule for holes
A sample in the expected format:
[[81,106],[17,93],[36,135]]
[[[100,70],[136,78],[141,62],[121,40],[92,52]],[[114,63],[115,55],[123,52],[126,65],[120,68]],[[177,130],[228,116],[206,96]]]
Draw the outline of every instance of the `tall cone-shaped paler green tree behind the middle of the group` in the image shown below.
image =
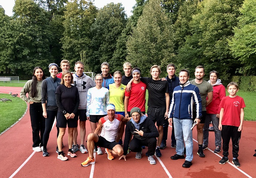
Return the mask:
[[149,75],[154,64],[166,67],[173,59],[173,27],[159,0],[150,0],[127,41],[127,60]]

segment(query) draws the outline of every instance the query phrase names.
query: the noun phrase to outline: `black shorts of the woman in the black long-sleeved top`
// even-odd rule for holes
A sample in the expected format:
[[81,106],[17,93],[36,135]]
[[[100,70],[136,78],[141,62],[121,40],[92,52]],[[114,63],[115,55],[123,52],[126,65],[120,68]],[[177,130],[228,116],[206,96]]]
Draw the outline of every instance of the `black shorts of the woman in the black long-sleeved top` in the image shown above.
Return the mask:
[[77,121],[78,121],[78,114],[75,114],[75,117],[73,119],[66,119],[64,114],[62,114],[61,112],[58,112],[56,120],[57,120],[56,127],[66,128],[68,124],[69,128],[76,128]]

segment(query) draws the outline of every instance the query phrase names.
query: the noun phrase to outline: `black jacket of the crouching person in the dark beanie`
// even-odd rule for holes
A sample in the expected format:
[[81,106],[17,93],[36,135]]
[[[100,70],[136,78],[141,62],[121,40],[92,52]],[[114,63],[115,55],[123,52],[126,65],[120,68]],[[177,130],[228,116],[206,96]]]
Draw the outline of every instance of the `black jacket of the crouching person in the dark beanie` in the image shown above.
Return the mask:
[[153,123],[153,121],[150,118],[146,118],[144,122],[140,124],[139,130],[143,131],[143,137],[141,137],[139,134],[135,133],[135,126],[132,123],[131,120],[129,120],[125,127],[125,137],[124,137],[124,155],[127,154],[129,142],[131,139],[131,136],[133,135],[134,138],[143,140],[146,138],[157,138],[159,137],[159,133],[157,131],[157,127]]

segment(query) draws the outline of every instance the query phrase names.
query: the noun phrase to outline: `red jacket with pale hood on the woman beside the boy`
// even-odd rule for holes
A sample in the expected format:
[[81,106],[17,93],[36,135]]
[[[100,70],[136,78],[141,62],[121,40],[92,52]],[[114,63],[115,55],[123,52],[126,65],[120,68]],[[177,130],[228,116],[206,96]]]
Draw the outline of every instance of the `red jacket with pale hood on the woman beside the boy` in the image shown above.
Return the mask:
[[[208,82],[211,83],[210,80],[208,80]],[[212,88],[212,102],[206,107],[206,113],[219,114],[219,112],[221,111],[221,108],[219,108],[219,104],[221,103],[222,98],[226,96],[226,89],[221,83],[220,79],[217,79],[216,83],[212,85]]]

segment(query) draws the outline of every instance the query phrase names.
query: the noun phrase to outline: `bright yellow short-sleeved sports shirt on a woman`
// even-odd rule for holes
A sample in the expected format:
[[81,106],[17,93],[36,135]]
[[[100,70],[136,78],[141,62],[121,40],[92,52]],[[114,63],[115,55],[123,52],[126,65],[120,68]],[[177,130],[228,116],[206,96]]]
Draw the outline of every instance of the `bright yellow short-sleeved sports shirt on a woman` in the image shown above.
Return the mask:
[[124,92],[126,86],[121,84],[116,88],[115,84],[109,84],[109,103],[116,107],[116,112],[124,112]]

